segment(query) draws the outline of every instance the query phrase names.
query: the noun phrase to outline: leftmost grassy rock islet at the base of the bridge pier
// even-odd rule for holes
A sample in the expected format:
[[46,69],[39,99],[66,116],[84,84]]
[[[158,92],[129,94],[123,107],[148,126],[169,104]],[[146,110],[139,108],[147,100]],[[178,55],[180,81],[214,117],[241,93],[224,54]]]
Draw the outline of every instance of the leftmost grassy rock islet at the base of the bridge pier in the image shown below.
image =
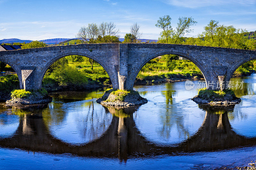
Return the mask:
[[6,101],[5,107],[28,106],[35,104],[46,104],[52,102],[52,97],[43,88],[41,90],[26,91],[24,89],[11,92],[11,99]]

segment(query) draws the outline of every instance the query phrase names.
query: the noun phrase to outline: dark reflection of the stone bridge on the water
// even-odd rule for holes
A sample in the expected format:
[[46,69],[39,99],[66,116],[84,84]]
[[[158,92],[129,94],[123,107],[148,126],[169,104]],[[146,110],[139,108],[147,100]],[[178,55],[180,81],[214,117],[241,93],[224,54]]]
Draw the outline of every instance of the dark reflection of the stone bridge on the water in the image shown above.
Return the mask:
[[[107,109],[107,108],[106,108]],[[202,126],[196,134],[177,145],[161,146],[148,141],[136,128],[133,112],[136,108],[115,110],[108,130],[98,139],[86,144],[68,144],[53,137],[42,119],[42,110],[36,115],[20,117],[20,124],[12,137],[0,139],[0,147],[48,153],[71,153],[78,156],[116,157],[152,156],[179,152],[215,151],[256,144],[256,138],[236,134],[229,123],[226,111],[207,109]]]

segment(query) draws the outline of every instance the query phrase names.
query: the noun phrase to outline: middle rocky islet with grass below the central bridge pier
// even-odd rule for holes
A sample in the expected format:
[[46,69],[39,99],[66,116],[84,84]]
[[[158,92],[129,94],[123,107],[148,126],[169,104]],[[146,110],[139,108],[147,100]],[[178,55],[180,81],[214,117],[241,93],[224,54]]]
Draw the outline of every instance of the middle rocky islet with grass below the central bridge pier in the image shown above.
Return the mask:
[[109,89],[96,102],[109,107],[130,107],[145,104],[148,100],[134,90]]

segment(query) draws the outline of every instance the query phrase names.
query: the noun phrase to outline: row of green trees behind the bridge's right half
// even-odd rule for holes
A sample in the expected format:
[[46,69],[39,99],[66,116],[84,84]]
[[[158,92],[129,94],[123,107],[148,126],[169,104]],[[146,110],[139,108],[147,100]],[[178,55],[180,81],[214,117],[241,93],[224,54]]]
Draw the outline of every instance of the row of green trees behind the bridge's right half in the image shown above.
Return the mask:
[[191,26],[196,25],[192,17],[180,17],[176,29],[171,26],[169,15],[159,17],[156,27],[163,31],[158,42],[171,44],[187,44],[211,47],[226,47],[240,49],[256,49],[256,35],[249,35],[246,29],[235,28],[233,25],[220,25],[219,21],[211,20],[204,26],[204,32],[195,37],[184,37],[185,33],[193,32]]

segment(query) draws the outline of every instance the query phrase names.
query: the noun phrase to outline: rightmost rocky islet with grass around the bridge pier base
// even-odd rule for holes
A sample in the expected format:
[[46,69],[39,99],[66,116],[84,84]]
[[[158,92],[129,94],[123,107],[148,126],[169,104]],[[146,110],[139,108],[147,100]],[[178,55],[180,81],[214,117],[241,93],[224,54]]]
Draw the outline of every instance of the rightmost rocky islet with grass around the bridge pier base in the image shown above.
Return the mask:
[[199,89],[198,95],[191,100],[197,104],[205,104],[209,106],[229,106],[241,102],[232,90],[208,90],[206,88]]

